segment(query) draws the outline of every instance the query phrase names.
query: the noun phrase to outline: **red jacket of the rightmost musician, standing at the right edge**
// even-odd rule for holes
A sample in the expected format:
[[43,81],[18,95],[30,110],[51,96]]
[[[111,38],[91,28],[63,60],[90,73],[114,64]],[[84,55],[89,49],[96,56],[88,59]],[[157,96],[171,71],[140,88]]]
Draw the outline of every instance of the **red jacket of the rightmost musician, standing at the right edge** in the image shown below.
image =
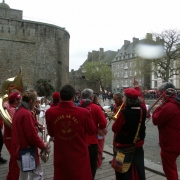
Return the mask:
[[152,121],[158,126],[161,148],[180,153],[180,98],[171,97],[158,107]]

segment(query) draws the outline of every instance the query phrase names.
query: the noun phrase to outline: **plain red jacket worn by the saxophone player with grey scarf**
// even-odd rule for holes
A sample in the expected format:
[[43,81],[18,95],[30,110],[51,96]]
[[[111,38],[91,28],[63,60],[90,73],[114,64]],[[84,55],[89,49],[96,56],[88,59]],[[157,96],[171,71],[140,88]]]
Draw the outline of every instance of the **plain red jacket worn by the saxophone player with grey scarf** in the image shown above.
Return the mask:
[[20,107],[13,116],[11,138],[12,153],[17,159],[19,159],[19,149],[35,146],[36,162],[39,163],[38,148],[43,149],[44,142],[38,136],[32,113],[24,107]]

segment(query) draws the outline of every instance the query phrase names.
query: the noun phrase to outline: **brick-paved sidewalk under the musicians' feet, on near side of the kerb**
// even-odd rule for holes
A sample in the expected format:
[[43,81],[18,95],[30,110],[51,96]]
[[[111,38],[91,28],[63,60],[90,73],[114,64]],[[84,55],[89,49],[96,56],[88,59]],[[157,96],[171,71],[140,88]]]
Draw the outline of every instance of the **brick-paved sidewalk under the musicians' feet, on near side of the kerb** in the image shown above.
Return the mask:
[[[9,159],[9,154],[3,146],[2,157]],[[112,169],[109,161],[112,159],[112,156],[104,153],[105,159],[103,160],[102,167],[97,169],[95,180],[115,180],[114,170]],[[53,180],[53,152],[50,153],[50,157],[47,163],[41,163],[44,170],[44,179]],[[6,180],[6,175],[8,172],[8,163],[0,164],[0,180]],[[157,173],[153,173],[149,170],[146,170],[146,179],[147,180],[165,180],[166,178]],[[64,179],[69,180],[69,179]]]

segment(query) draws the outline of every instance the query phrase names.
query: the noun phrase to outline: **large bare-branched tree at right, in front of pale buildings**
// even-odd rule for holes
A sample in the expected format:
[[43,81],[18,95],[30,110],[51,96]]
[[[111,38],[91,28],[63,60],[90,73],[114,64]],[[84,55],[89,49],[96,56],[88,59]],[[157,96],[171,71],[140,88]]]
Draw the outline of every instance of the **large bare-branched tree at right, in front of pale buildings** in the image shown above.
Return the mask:
[[164,30],[162,33],[153,33],[153,38],[154,42],[163,45],[164,57],[157,59],[138,57],[135,60],[137,64],[135,69],[140,69],[143,74],[154,73],[157,78],[169,81],[169,78],[179,75],[180,71],[180,31]]

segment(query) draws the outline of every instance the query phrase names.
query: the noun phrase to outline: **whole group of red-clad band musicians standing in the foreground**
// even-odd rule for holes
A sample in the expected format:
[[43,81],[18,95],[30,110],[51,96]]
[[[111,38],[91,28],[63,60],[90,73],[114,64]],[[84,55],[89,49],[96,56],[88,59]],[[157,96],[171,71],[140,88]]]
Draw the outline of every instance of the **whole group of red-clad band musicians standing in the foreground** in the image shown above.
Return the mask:
[[[109,99],[114,100],[110,113],[114,120],[114,157],[120,148],[135,145],[130,169],[126,173],[115,170],[116,180],[146,179],[143,144],[145,121],[149,114],[135,78],[133,85],[134,88],[126,88],[124,92],[109,93]],[[158,90],[162,99],[152,114],[152,122],[159,130],[160,155],[166,178],[178,180],[176,159],[180,155],[180,98],[172,83],[163,83]],[[108,99],[108,94],[102,94],[102,98]],[[47,132],[53,138],[54,180],[93,180],[97,169],[102,166],[109,115],[101,107],[98,95],[89,88],[76,92],[72,85],[66,84],[52,94],[52,99],[50,108],[45,112],[45,120]],[[41,155],[43,151],[49,152],[51,147],[38,135],[42,127],[37,119],[40,113],[37,102],[36,91],[26,90],[22,94],[12,92],[3,104],[12,118],[11,127],[4,123],[3,134],[0,121],[0,153],[4,142],[10,154],[7,180],[43,179],[39,151]],[[24,171],[24,157],[20,151],[29,147],[34,151],[36,166]],[[0,163],[7,163],[1,154]]]

